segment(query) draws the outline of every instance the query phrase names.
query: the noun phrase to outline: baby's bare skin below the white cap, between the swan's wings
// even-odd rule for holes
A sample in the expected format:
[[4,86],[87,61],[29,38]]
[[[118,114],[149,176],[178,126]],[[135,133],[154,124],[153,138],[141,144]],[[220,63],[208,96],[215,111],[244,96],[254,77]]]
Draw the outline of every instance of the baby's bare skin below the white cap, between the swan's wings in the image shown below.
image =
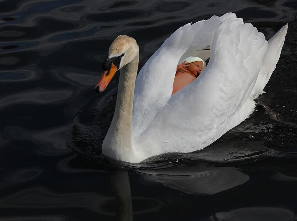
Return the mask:
[[176,68],[176,73],[174,77],[172,95],[181,90],[184,86],[193,82],[202,72],[203,62],[195,61],[192,63],[187,63],[184,61],[179,64]]

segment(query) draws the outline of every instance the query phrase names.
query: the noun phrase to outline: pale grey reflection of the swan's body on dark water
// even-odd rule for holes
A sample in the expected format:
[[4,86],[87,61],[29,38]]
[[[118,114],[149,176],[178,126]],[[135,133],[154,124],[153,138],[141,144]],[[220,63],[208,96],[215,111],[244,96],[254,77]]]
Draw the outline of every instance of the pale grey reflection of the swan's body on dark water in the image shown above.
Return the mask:
[[249,176],[235,167],[193,165],[174,170],[141,171],[143,179],[191,194],[215,194],[239,186]]

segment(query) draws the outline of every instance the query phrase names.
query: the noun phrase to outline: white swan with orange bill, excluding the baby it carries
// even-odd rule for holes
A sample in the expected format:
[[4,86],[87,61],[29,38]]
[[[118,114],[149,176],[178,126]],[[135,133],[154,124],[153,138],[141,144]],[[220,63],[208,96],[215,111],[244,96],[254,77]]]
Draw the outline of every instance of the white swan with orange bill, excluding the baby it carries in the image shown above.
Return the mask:
[[[131,163],[166,152],[193,152],[246,119],[278,62],[288,25],[268,42],[233,13],[186,24],[166,39],[137,74],[139,47],[120,35],[109,48],[95,88],[120,71],[114,117],[102,153]],[[176,65],[210,45],[209,64],[171,96]],[[133,98],[134,96],[134,98]],[[132,113],[133,111],[133,113]]]

